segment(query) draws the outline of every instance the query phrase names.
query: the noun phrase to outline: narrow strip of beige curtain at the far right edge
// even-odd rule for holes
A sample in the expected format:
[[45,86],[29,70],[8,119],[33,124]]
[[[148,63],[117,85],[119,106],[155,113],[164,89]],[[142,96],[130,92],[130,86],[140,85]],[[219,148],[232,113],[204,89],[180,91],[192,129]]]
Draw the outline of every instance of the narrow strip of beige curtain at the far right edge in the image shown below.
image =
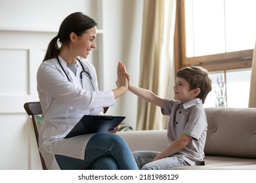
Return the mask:
[[251,64],[251,86],[248,107],[256,107],[256,41],[253,50],[253,61]]

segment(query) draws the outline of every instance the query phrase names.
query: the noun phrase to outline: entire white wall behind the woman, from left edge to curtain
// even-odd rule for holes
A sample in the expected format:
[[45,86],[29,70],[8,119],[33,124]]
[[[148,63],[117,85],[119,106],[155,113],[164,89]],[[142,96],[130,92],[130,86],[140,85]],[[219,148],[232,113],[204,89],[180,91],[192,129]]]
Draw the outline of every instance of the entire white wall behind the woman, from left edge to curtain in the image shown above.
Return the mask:
[[[37,67],[62,20],[81,11],[98,22],[98,49],[89,60],[102,89],[116,87],[119,60],[138,84],[142,4],[142,0],[0,0],[0,169],[41,169],[23,104],[38,100]],[[126,124],[135,129],[137,97],[125,93],[108,114],[127,116]]]

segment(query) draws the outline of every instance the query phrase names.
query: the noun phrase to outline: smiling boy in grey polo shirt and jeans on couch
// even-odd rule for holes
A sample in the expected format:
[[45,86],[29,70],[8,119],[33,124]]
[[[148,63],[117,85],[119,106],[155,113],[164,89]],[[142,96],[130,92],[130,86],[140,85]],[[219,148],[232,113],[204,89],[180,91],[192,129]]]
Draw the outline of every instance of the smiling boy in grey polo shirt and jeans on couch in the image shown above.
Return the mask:
[[184,67],[176,74],[174,100],[161,99],[150,90],[134,86],[129,91],[161,107],[169,115],[167,137],[169,145],[161,152],[137,151],[133,156],[139,169],[171,169],[199,165],[203,162],[207,119],[203,103],[211,92],[211,79],[202,67]]

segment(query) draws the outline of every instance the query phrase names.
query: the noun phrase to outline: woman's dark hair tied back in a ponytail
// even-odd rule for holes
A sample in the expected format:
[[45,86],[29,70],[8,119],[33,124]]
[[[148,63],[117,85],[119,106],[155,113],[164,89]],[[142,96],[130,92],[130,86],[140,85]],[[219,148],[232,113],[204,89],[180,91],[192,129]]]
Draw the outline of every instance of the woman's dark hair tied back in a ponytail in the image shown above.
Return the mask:
[[56,37],[54,37],[49,43],[43,61],[56,58],[58,56],[60,52],[57,44],[58,39],[61,44],[68,45],[70,43],[70,33],[73,32],[77,36],[81,36],[87,31],[87,29],[91,29],[96,25],[97,23],[95,20],[93,20],[93,18],[90,18],[81,12],[74,12],[67,16],[60,25],[58,35],[56,35]]

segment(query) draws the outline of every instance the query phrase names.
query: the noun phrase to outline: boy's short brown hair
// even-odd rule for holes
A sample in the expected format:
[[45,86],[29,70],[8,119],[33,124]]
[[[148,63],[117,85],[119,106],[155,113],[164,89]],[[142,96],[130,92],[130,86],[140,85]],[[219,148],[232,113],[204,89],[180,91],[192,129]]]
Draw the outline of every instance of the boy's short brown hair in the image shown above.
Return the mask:
[[211,79],[206,69],[197,66],[184,67],[177,71],[176,76],[184,78],[189,83],[190,90],[200,88],[198,98],[202,99],[202,103],[205,102],[205,98],[211,92]]

